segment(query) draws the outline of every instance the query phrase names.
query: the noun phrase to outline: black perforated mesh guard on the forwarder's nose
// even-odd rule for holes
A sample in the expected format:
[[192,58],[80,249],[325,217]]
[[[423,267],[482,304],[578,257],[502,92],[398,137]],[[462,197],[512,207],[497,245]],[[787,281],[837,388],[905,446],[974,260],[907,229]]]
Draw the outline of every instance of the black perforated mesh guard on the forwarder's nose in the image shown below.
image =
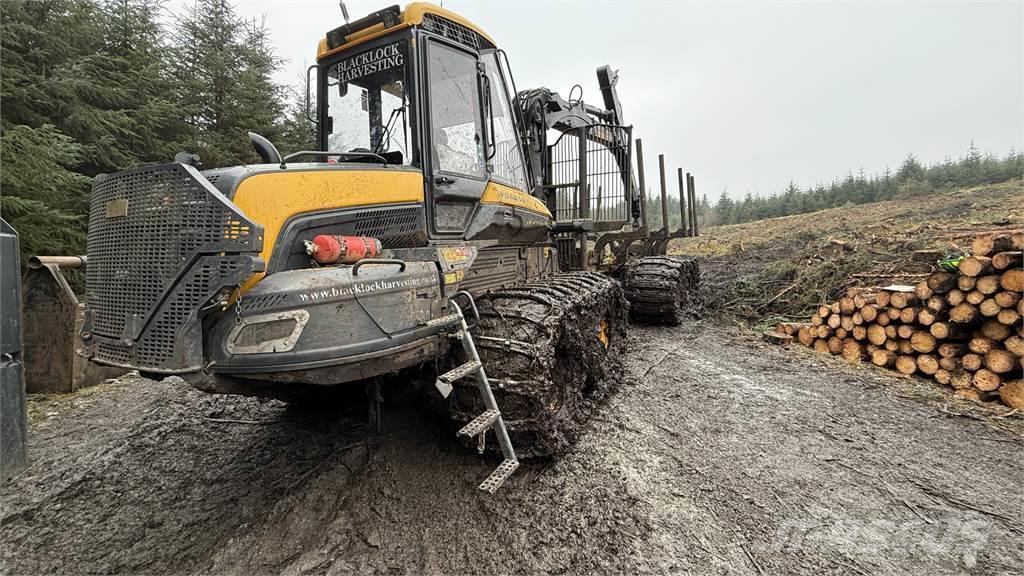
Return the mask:
[[198,369],[199,310],[263,270],[262,244],[262,228],[191,166],[97,177],[86,269],[95,359],[159,372]]

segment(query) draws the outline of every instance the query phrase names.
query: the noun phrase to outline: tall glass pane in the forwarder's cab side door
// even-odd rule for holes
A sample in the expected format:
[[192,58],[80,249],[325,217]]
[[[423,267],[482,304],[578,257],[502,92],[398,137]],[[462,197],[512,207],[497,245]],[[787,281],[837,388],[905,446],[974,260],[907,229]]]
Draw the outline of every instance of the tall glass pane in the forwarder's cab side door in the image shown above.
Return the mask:
[[482,179],[486,160],[476,58],[431,42],[427,73],[434,169]]

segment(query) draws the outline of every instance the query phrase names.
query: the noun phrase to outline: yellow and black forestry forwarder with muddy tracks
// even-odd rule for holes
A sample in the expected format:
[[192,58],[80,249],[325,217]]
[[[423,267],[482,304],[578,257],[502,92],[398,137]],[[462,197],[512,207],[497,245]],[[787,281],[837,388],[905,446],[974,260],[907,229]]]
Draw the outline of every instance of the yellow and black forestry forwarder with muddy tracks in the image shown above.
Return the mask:
[[[563,451],[621,373],[629,304],[588,271],[664,254],[616,78],[598,70],[606,110],[516,95],[495,42],[424,3],[331,31],[312,69],[321,151],[251,134],[262,164],[179,154],[96,178],[82,339],[100,364],[285,399],[441,359],[460,435],[496,433],[494,491],[512,441]],[[626,268],[638,310],[674,322],[693,269]]]

